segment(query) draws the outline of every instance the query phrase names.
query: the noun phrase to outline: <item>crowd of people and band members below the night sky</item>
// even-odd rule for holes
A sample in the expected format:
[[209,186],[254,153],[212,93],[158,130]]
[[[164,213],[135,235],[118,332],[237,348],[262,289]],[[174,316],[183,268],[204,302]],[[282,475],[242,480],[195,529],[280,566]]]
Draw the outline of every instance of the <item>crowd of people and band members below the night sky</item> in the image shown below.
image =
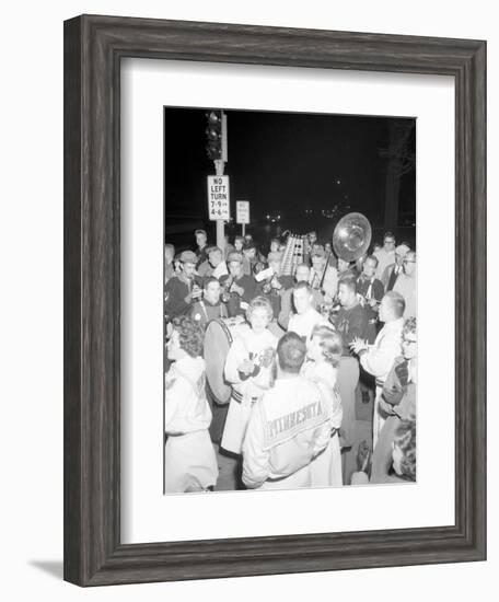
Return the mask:
[[[311,232],[283,274],[280,239],[266,256],[251,234],[223,250],[204,230],[195,240],[193,251],[164,248],[165,491],[213,489],[217,452],[239,460],[252,489],[415,481],[416,251],[387,232],[348,263]],[[213,320],[237,324],[228,405],[202,358]],[[359,379],[374,402],[372,432],[356,443]]]

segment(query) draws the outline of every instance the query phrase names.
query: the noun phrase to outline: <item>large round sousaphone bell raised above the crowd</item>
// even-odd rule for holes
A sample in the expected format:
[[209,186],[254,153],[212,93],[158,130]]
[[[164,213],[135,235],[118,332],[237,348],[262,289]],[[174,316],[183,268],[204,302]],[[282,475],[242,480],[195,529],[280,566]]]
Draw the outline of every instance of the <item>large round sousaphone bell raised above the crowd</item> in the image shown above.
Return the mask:
[[362,213],[347,213],[336,224],[333,232],[333,248],[337,257],[345,262],[355,262],[361,257],[371,244],[371,224]]

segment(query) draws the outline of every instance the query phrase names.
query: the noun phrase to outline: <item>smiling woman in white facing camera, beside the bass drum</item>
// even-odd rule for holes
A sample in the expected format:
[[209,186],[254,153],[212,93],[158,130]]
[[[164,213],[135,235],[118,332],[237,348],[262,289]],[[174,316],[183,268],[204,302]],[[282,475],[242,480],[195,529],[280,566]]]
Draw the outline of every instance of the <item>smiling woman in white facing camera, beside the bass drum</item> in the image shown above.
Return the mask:
[[277,337],[268,325],[272,308],[265,297],[256,297],[250,303],[246,319],[251,328],[242,329],[232,341],[225,360],[224,374],[232,384],[221,447],[240,454],[253,404],[270,386]]

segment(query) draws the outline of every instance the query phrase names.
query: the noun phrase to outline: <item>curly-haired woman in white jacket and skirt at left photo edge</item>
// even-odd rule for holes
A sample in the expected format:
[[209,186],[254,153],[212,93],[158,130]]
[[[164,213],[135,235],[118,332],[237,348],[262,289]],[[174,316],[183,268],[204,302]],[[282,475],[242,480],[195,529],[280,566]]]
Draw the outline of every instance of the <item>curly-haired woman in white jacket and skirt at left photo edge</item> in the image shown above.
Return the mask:
[[202,328],[187,316],[175,317],[169,327],[166,350],[174,363],[165,375],[165,491],[207,490],[217,483],[218,466],[208,435]]

